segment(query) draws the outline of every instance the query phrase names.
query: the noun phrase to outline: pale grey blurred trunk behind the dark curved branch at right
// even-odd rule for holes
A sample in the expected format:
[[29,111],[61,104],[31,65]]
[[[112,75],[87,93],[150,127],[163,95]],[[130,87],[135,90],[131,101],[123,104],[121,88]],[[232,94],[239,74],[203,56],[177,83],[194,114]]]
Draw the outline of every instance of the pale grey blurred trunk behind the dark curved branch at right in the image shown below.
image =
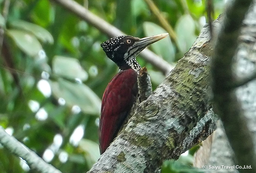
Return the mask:
[[[255,1],[254,1],[255,2]],[[235,65],[233,69],[236,72],[238,79],[236,81],[243,81],[247,76],[253,76],[256,71],[256,5],[251,7],[249,13],[243,21],[243,26],[241,30],[241,35],[239,36],[239,45],[236,50],[235,55]],[[242,84],[244,82],[238,82]],[[238,86],[238,85],[233,85]],[[253,137],[254,150],[256,143],[256,80],[252,80],[246,85],[239,87],[236,90],[236,96],[241,105],[243,114],[245,115],[245,120],[247,120],[247,127],[250,134]],[[238,136],[235,136],[238,138]],[[211,156],[207,165],[236,165],[232,159],[234,158],[233,151],[231,150],[230,144],[226,134],[224,132],[223,126],[218,125],[216,135],[214,137],[211,150]],[[244,145],[247,143],[247,139],[239,138],[239,143]],[[251,159],[251,158],[249,158]],[[218,169],[218,170],[207,170],[212,173],[237,173],[236,169]],[[245,169],[245,171],[248,171]]]

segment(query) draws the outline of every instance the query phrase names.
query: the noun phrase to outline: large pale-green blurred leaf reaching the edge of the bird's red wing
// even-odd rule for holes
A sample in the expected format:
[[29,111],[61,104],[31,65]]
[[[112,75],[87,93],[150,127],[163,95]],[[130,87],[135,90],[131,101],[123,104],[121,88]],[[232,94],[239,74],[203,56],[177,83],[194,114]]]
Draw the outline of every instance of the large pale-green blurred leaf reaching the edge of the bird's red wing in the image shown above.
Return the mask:
[[77,105],[85,114],[99,116],[101,100],[93,91],[83,83],[71,83],[59,78],[58,82],[50,81],[53,96],[66,100],[70,107]]

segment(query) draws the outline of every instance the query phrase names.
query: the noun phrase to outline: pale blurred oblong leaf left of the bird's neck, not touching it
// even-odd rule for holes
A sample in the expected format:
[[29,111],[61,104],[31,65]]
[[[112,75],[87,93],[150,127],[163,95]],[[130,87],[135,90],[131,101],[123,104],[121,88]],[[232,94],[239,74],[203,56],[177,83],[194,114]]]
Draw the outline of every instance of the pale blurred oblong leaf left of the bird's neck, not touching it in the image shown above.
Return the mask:
[[88,73],[81,67],[78,59],[55,56],[52,62],[53,72],[69,79],[87,80]]

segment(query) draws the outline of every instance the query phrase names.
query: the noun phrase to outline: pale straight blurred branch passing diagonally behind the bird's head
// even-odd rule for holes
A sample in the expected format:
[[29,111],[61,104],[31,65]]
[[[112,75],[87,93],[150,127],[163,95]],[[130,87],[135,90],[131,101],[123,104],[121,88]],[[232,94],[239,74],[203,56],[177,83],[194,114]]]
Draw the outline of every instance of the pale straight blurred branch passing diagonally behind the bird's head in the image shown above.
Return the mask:
[[[58,5],[63,6],[70,12],[78,15],[83,20],[87,21],[89,24],[96,27],[101,32],[107,34],[110,37],[125,35],[125,33],[120,31],[113,25],[107,23],[105,20],[98,17],[97,15],[94,15],[93,13],[88,11],[86,8],[81,6],[79,3],[73,0],[53,0],[53,1],[55,1]],[[157,56],[155,53],[151,52],[148,49],[143,50],[140,53],[140,56],[143,59],[145,59],[145,61],[151,63],[156,68],[161,70],[164,74],[168,74],[174,68],[174,66],[172,66],[167,61],[160,58],[159,56]]]

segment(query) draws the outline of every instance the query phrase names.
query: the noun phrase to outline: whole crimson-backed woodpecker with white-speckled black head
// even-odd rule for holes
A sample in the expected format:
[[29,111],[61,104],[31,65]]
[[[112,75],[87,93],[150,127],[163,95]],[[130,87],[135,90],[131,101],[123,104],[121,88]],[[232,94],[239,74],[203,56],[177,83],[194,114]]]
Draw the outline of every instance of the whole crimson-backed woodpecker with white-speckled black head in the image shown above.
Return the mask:
[[104,91],[99,119],[100,153],[113,142],[120,129],[128,121],[138,99],[138,76],[140,64],[136,56],[150,44],[165,38],[163,33],[145,38],[121,35],[101,44],[102,49],[118,67],[117,73]]

